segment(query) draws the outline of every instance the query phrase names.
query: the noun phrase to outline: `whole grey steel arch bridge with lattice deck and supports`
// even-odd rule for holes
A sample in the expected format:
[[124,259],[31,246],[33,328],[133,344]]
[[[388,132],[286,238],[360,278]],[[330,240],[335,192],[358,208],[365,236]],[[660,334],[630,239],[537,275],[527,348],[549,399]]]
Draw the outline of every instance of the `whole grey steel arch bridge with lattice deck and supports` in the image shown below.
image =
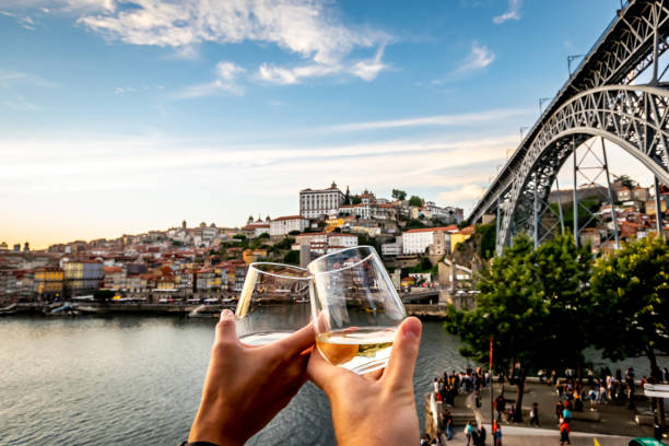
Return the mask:
[[[666,2],[669,0],[632,0],[618,11],[617,19],[584,57],[476,206],[468,218],[470,223],[496,211],[497,254],[519,232],[533,234],[536,245],[552,232],[553,227],[545,227],[542,215],[552,212],[548,207],[551,186],[572,154],[574,209],[578,209],[576,149],[592,137],[611,141],[638,160],[655,175],[656,187],[658,180],[669,185],[669,90],[659,81],[667,71],[665,68],[659,72],[659,59],[669,48]],[[647,69],[653,70],[649,85],[630,85]],[[603,145],[602,152],[618,246]],[[656,198],[656,209],[660,209]],[[574,216],[574,236],[578,243],[580,228],[577,214]],[[563,225],[562,207],[560,223]],[[657,226],[661,233],[661,218],[657,219]]]

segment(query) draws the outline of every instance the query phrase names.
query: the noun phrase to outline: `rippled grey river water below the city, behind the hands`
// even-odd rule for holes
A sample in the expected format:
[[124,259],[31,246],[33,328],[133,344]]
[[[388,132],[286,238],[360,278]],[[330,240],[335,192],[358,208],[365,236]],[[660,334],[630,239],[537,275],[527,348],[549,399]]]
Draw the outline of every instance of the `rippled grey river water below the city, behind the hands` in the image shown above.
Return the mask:
[[[0,319],[0,445],[178,445],[197,411],[213,320]],[[424,322],[414,386],[468,361]],[[643,360],[635,366],[646,371]],[[334,444],[324,394],[307,383],[250,445]]]

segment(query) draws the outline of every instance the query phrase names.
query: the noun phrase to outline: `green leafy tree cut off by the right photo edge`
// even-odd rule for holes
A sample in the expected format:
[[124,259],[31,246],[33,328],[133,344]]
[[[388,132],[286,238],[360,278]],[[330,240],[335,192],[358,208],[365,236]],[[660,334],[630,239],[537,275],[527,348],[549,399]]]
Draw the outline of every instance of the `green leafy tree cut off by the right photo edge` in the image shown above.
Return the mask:
[[[643,238],[599,259],[590,281],[592,312],[600,324],[595,347],[611,361],[646,355],[650,375],[661,379],[657,353],[669,353],[669,247]],[[658,399],[661,423],[664,404]]]

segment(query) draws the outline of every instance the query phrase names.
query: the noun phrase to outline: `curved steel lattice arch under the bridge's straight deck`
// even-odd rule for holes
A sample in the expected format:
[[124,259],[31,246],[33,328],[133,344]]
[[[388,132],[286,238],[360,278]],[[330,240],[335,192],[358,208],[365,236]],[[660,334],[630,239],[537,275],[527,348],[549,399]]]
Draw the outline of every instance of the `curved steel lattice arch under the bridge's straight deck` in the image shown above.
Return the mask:
[[[669,90],[620,85],[586,91],[544,122],[523,159],[506,195],[497,253],[512,231],[527,230],[535,190],[542,202],[548,201],[562,164],[575,146],[591,137],[602,137],[621,146],[669,184]],[[525,218],[525,223],[518,223],[519,218]]]

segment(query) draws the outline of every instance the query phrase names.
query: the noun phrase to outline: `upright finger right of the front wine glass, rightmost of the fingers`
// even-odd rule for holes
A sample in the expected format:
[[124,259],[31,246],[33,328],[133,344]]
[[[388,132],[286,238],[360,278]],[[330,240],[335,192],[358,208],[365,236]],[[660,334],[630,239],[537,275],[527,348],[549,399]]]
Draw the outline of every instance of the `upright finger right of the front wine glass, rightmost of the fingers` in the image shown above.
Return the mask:
[[384,373],[384,380],[395,385],[413,383],[413,369],[421,343],[421,321],[415,317],[406,319],[395,336],[392,352]]

